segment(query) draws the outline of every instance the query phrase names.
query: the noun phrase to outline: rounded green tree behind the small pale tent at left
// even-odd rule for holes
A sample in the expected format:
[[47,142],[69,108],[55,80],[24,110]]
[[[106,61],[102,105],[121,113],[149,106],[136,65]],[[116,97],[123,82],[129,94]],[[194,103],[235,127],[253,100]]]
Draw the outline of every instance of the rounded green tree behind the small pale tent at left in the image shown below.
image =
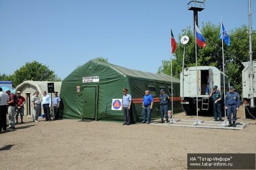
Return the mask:
[[61,79],[54,74],[49,66],[43,65],[37,61],[27,62],[24,66],[14,71],[11,76],[13,86],[16,87],[26,80],[33,81],[61,81]]

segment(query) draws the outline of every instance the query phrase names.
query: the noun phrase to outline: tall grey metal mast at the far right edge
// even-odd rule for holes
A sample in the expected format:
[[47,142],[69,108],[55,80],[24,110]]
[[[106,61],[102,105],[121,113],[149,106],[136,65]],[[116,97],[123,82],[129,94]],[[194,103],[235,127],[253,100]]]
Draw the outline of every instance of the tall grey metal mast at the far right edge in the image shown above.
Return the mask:
[[250,58],[250,107],[254,107],[254,89],[253,89],[253,64],[252,64],[252,32],[251,32],[251,0],[249,4],[249,58]]

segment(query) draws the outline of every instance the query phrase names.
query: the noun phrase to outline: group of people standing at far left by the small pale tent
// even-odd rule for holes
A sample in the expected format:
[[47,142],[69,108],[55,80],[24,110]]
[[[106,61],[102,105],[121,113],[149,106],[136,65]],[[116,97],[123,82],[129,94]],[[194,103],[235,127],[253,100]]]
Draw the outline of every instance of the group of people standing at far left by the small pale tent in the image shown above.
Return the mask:
[[[6,114],[8,112],[8,124],[9,129],[15,129],[15,125],[18,124],[18,116],[20,115],[20,124],[23,124],[24,116],[24,105],[26,104],[26,99],[20,95],[20,91],[16,92],[17,95],[13,94],[10,90],[3,92],[3,89],[0,87],[0,132],[2,129],[7,130],[7,118]],[[32,96],[32,118],[33,122],[38,122],[38,117],[40,109],[44,110],[46,121],[51,120],[50,107],[52,104],[51,96],[42,92],[42,99],[39,99],[39,91],[35,91],[35,94]],[[53,109],[54,109],[54,119],[59,118],[58,108],[60,104],[60,98],[58,92],[54,92],[55,96],[53,98]],[[16,119],[16,123],[15,123]]]

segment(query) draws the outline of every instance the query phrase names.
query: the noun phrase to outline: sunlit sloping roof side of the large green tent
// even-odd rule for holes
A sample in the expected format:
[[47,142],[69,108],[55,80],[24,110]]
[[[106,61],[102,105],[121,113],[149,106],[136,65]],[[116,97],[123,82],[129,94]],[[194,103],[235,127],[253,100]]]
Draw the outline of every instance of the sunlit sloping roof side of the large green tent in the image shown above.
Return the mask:
[[[98,60],[90,60],[89,62],[93,62],[95,64],[102,64],[102,65],[111,67],[113,70],[119,72],[122,75],[130,76],[130,77],[134,77],[134,78],[144,78],[144,79],[167,81],[167,82],[170,82],[172,80],[172,77],[168,76],[166,74],[156,74],[156,73],[145,72],[145,71],[140,71],[140,70],[135,70],[135,69],[129,69],[129,68],[117,66],[114,64],[101,62]],[[173,82],[180,83],[180,80],[178,78],[173,77]]]

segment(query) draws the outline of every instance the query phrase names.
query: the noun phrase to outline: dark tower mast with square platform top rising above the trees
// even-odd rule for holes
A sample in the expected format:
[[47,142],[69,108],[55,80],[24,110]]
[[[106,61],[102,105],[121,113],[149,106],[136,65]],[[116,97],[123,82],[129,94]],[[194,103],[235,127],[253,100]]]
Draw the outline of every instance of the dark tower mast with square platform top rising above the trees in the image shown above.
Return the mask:
[[187,4],[187,9],[190,11],[194,11],[194,32],[195,32],[195,22],[198,26],[198,11],[204,10],[204,2],[205,1],[190,1]]

